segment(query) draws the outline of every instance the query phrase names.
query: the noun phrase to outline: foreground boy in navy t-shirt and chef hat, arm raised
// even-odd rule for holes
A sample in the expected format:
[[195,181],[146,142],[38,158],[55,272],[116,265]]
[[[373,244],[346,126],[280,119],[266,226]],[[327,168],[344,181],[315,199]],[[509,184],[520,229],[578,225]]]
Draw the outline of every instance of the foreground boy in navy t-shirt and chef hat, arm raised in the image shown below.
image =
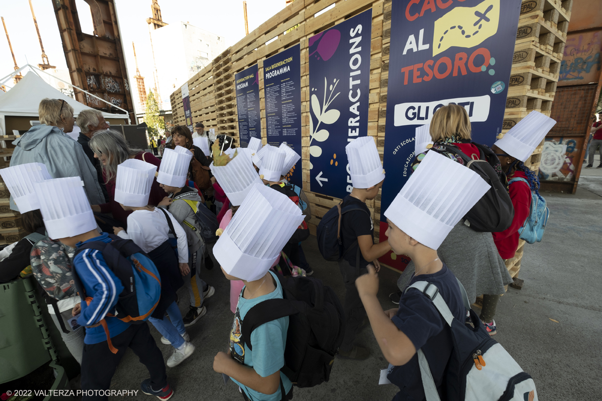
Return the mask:
[[[466,309],[459,281],[450,270],[454,266],[448,268],[439,260],[437,248],[488,188],[488,183],[474,171],[438,153],[428,152],[385,211],[389,225],[386,236],[391,249],[411,257],[416,266],[406,288],[416,284],[425,290],[430,284],[433,292],[438,289],[433,299],[442,298],[453,317],[462,324]],[[424,399],[419,358],[414,358],[414,354],[417,350],[423,351],[435,383],[444,382],[443,375],[452,354],[451,333],[444,331],[445,320],[426,294],[414,287],[403,293],[399,309],[383,311],[376,297],[378,275],[371,265],[368,274],[359,277],[355,285],[383,356],[395,366],[389,369],[387,378],[400,388],[414,391],[412,398]]]

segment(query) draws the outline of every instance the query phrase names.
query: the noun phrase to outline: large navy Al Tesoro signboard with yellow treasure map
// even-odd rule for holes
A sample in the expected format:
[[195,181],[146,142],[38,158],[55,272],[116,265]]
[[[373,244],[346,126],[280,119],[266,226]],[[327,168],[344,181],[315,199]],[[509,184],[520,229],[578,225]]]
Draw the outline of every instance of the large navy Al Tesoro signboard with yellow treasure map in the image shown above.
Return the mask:
[[[382,214],[408,180],[415,129],[443,105],[470,115],[474,142],[501,132],[521,0],[398,0],[391,15]],[[428,185],[428,183],[425,183]],[[380,259],[400,270],[407,259]]]

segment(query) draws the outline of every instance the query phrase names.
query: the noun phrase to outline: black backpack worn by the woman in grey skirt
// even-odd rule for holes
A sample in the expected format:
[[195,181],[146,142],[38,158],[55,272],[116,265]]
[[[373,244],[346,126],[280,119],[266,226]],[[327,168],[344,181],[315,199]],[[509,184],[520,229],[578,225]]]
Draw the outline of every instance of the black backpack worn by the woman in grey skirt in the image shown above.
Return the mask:
[[508,194],[508,185],[506,180],[500,181],[494,169],[494,165],[498,162],[497,156],[488,147],[472,142],[479,148],[479,160],[473,160],[465,155],[458,147],[448,144],[437,144],[432,150],[441,153],[444,152],[456,153],[464,161],[464,165],[470,170],[485,180],[491,185],[489,191],[468,210],[464,216],[467,220],[468,227],[480,233],[498,233],[506,230],[512,224],[514,219],[514,206]]

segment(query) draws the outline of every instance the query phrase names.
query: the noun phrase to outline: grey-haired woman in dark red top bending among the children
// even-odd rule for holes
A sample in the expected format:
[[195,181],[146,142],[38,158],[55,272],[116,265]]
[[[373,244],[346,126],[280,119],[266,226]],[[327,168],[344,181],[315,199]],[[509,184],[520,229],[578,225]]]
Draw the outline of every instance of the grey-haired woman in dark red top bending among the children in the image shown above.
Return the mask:
[[[115,179],[117,177],[117,166],[127,159],[138,159],[159,167],[161,161],[151,153],[144,152],[141,149],[131,147],[123,138],[122,133],[116,130],[107,130],[96,133],[88,142],[90,149],[94,152],[94,157],[101,162],[102,179],[107,186],[109,201],[104,204],[92,206],[92,210],[102,213],[113,213],[113,218],[122,223],[122,227],[127,226],[128,215],[131,211],[123,210],[123,207],[115,201]],[[157,179],[152,183],[149,204],[157,206],[166,192],[159,186]]]

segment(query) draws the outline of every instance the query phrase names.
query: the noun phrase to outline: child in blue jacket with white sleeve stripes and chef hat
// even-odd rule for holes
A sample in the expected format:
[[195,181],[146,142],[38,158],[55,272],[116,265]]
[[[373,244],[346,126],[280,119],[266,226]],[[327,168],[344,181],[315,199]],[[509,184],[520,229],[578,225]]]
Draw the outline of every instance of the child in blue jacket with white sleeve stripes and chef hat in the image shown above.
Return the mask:
[[[169,399],[173,390],[167,383],[163,355],[148,325],[131,324],[114,316],[124,283],[109,268],[103,252],[89,248],[92,243],[108,244],[113,240],[109,234],[99,234],[96,230],[94,213],[81,179],[50,179],[37,183],[34,188],[49,237],[68,246],[84,248],[73,259],[73,269],[81,282],[78,323],[85,326],[81,389],[110,388],[115,367],[125,354],[118,350],[130,347],[151,376],[142,382],[142,391]],[[125,292],[132,293],[128,288]],[[73,316],[76,314],[74,308]]]

